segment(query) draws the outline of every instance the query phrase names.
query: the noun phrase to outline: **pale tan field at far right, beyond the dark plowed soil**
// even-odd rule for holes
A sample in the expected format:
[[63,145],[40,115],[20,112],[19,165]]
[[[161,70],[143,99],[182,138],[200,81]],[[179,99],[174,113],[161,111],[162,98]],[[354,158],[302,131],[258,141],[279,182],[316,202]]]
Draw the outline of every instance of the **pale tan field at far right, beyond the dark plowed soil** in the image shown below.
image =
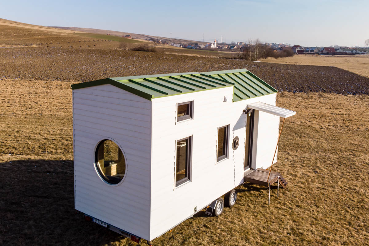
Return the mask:
[[330,55],[295,55],[286,58],[261,59],[262,62],[293,65],[334,66],[369,78],[369,55],[330,56]]

